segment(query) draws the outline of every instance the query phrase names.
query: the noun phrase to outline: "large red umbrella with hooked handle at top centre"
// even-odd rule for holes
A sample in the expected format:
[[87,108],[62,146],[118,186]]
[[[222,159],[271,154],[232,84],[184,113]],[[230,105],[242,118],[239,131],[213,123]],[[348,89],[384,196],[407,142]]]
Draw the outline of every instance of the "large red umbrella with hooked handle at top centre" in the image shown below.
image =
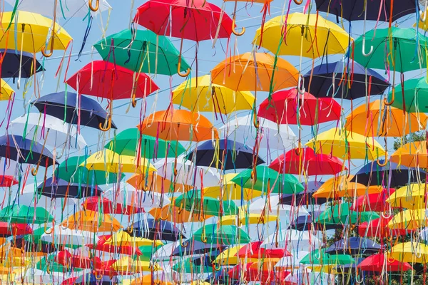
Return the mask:
[[183,38],[199,42],[236,33],[232,19],[206,0],[149,0],[138,7],[134,22],[158,35],[181,38],[177,71],[183,77],[190,73],[180,73]]

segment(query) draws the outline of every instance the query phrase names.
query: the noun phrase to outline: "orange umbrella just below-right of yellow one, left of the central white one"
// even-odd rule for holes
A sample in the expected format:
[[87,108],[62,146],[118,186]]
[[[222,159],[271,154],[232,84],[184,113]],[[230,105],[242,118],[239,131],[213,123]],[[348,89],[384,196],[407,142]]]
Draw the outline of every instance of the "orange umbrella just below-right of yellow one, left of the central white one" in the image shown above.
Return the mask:
[[173,183],[161,175],[157,175],[156,172],[149,172],[147,176],[145,173],[135,174],[129,177],[126,182],[135,187],[136,190],[153,191],[158,193],[187,192],[192,189],[192,187],[188,185]]

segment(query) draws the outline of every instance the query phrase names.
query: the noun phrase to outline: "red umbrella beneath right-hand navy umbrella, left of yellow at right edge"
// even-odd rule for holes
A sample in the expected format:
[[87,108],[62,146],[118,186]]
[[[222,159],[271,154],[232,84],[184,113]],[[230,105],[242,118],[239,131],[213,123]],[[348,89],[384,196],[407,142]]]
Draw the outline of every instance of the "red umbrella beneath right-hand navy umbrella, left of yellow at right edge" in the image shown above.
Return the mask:
[[394,192],[395,189],[389,188],[389,190],[384,189],[380,193],[362,195],[355,200],[354,204],[352,204],[352,209],[358,212],[386,212],[390,207],[386,202],[386,199]]

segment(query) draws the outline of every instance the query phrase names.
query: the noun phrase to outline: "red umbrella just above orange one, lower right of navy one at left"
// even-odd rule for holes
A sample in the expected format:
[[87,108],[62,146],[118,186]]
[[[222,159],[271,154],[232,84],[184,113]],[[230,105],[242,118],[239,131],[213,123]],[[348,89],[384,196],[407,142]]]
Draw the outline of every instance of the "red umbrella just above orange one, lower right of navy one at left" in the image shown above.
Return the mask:
[[113,203],[106,197],[88,197],[82,204],[83,209],[89,209],[104,214],[138,214],[143,212],[143,208],[136,206],[123,206],[123,204]]

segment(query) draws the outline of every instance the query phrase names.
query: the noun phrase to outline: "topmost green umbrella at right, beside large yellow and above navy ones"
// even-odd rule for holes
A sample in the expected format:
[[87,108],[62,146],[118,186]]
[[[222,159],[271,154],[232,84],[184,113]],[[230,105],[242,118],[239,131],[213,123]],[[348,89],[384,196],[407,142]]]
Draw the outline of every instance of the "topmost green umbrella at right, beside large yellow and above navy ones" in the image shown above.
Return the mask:
[[[427,37],[422,33],[418,33],[418,35],[416,33],[414,28],[397,27],[392,27],[391,33],[389,33],[389,28],[376,28],[368,31],[365,33],[364,51],[364,37],[360,36],[355,40],[354,60],[366,68],[387,69],[386,64],[389,63],[389,69],[397,72],[426,68],[427,55],[424,46],[427,44]],[[390,40],[392,45],[389,44]],[[371,46],[373,48],[370,53]]]

